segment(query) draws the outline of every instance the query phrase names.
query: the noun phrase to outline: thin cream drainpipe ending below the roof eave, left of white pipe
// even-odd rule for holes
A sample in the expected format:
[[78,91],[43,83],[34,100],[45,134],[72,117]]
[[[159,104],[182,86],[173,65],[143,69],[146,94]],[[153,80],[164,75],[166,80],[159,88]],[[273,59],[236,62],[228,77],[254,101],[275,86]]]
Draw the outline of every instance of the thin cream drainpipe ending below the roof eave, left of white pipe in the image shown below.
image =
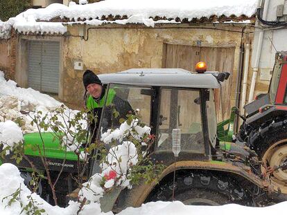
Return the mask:
[[243,69],[243,88],[242,88],[242,97],[241,97],[241,106],[240,112],[243,114],[243,107],[246,102],[246,92],[247,92],[247,79],[248,79],[248,68],[249,68],[249,59],[250,59],[250,41],[249,41],[249,32],[247,32],[247,40],[245,42],[245,56],[244,56],[244,69]]

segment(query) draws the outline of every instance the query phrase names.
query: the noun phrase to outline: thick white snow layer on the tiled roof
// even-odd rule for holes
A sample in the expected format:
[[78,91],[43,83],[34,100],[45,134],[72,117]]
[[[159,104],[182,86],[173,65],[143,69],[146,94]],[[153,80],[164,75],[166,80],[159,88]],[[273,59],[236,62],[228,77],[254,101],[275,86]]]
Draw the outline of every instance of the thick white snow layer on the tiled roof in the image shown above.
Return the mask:
[[106,0],[98,3],[91,3],[84,6],[71,6],[63,17],[70,19],[96,19],[96,17],[108,15],[143,15],[149,17],[179,17],[180,19],[210,17],[211,15],[246,15],[250,17],[254,14],[257,0]]

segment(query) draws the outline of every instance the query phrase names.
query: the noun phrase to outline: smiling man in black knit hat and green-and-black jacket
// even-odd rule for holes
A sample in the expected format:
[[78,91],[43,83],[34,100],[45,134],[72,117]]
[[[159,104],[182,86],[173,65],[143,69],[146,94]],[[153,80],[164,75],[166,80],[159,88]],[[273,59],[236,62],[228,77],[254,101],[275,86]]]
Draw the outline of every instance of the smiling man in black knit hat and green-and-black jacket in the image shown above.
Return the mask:
[[[116,124],[119,124],[120,118],[125,118],[125,115],[130,111],[133,112],[133,110],[128,101],[125,101],[116,95],[116,89],[110,89],[108,95],[106,95],[107,92],[105,86],[103,86],[101,80],[94,72],[89,70],[85,71],[82,75],[82,82],[86,90],[85,101],[87,109],[89,113],[93,113],[94,115],[94,120],[89,124],[92,135],[91,142],[94,142],[96,140],[96,133],[101,120],[101,113],[103,106],[105,105],[105,100],[107,100],[106,106],[114,106],[114,109],[119,112],[119,118],[115,121]],[[110,114],[112,113],[113,110],[110,109]],[[107,117],[107,115],[105,115],[105,117]],[[110,120],[112,120],[111,116],[109,118],[105,118],[106,127],[111,126],[112,122]]]

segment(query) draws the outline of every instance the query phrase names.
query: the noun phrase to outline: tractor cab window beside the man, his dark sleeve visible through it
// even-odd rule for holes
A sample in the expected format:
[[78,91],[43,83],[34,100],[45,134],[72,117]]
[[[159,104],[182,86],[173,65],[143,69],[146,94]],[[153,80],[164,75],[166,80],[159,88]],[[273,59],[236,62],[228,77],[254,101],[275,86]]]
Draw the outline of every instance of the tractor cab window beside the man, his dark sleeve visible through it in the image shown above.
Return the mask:
[[110,84],[103,113],[100,133],[107,129],[118,129],[129,114],[139,113],[139,118],[146,126],[150,125],[151,89],[123,84]]

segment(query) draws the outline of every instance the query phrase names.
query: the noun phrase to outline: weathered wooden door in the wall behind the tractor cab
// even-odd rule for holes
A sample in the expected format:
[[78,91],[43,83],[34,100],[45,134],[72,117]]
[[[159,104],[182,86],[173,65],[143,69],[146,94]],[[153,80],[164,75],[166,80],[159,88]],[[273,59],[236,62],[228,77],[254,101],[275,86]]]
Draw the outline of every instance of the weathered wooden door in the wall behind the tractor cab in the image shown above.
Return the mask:
[[232,71],[234,68],[235,47],[211,48],[198,46],[184,46],[165,44],[165,68],[184,68],[195,72],[195,64],[199,61],[207,62],[208,71],[229,72],[227,82],[223,82],[221,92],[216,90],[216,113],[218,121],[229,118],[230,97],[232,91]]

